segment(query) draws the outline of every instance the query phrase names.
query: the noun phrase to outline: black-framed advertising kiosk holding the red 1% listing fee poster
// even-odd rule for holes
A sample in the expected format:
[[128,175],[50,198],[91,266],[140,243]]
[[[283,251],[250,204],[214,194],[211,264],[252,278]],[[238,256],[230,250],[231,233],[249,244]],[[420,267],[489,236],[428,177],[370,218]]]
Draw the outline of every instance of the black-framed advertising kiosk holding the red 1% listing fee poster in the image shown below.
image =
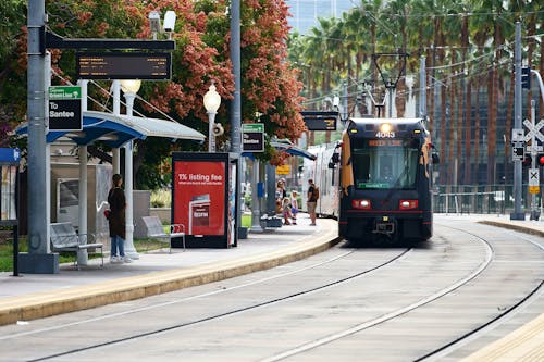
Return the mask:
[[172,223],[185,225],[187,247],[235,246],[236,167],[228,153],[174,152],[172,162]]

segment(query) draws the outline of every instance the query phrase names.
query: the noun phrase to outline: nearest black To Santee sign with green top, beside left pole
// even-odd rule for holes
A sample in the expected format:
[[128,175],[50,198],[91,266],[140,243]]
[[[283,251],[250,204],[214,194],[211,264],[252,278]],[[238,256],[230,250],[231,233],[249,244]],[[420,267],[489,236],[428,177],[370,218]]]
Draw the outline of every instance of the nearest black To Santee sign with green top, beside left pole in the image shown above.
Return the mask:
[[49,129],[82,130],[82,87],[49,87]]

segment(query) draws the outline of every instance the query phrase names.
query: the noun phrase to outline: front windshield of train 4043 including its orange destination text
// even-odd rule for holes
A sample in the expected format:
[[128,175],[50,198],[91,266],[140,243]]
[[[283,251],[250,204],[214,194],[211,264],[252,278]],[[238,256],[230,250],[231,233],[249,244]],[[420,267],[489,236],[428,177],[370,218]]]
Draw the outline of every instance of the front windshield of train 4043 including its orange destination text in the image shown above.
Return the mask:
[[358,189],[415,189],[418,139],[353,139],[351,163]]

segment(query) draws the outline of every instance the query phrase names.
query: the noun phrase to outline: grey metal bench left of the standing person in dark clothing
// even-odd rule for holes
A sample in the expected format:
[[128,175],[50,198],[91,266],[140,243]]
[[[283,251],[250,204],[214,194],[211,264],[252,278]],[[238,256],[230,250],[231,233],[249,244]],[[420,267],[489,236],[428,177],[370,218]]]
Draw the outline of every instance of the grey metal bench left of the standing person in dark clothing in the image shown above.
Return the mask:
[[73,251],[76,253],[74,265],[79,269],[77,263],[77,252],[79,250],[100,249],[103,267],[103,244],[88,242],[89,239],[95,239],[92,234],[77,234],[71,223],[52,223],[50,225],[51,233],[51,249],[52,251]]

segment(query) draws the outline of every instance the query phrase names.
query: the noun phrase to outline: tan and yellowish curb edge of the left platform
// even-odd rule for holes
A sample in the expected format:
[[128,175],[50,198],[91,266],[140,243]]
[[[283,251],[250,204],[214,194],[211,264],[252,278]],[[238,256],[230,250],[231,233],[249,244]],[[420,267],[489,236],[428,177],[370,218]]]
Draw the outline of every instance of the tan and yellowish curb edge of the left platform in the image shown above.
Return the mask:
[[276,251],[231,261],[5,298],[0,300],[0,325],[156,296],[290,263],[320,253],[339,242],[335,228],[323,232],[319,236],[309,235]]

